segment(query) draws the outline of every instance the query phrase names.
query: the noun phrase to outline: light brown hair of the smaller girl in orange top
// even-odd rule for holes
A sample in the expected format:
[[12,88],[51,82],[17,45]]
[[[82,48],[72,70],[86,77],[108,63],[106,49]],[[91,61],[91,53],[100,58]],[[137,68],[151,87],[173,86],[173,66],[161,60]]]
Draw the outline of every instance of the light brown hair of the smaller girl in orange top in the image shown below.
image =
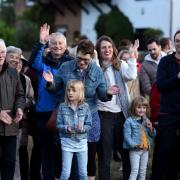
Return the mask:
[[146,98],[144,98],[143,96],[138,96],[133,99],[133,101],[131,102],[131,106],[130,106],[130,115],[131,116],[136,116],[136,107],[137,106],[145,106],[146,107],[146,116],[147,117],[150,116],[150,106],[149,106],[149,102]]

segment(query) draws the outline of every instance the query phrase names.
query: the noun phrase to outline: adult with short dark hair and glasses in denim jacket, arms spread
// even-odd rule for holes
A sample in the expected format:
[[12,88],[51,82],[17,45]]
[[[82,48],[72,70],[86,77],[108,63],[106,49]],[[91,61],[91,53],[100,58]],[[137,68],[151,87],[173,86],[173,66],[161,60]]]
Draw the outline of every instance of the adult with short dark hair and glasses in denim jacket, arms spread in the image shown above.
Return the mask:
[[97,98],[109,101],[113,94],[119,93],[116,85],[107,88],[101,68],[92,61],[94,44],[90,40],[82,40],[77,47],[75,61],[64,63],[55,77],[50,71],[44,72],[47,88],[51,91],[65,89],[69,80],[81,80],[85,88],[85,101],[92,114],[92,128],[88,133],[88,176],[95,176],[96,145],[100,138],[100,120],[97,112]]

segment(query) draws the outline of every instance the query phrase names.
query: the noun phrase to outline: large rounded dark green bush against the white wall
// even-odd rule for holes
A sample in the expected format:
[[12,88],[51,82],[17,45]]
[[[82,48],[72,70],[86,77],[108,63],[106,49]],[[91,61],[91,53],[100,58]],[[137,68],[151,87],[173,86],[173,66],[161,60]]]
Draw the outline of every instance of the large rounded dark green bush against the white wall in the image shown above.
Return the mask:
[[110,36],[116,45],[122,39],[134,39],[133,26],[116,6],[108,14],[99,16],[95,24],[95,30],[98,38],[102,35]]

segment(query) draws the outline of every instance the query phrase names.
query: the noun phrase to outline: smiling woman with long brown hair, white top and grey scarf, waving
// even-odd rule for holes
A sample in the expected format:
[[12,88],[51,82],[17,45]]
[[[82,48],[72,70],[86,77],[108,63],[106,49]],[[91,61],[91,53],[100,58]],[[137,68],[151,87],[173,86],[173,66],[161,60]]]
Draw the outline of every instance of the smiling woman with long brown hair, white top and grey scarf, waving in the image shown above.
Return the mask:
[[120,61],[113,40],[108,36],[101,36],[97,40],[96,50],[99,63],[103,70],[107,87],[117,85],[120,88],[118,95],[113,95],[111,101],[106,103],[98,101],[98,112],[101,122],[101,136],[98,148],[98,165],[100,180],[110,180],[110,161],[113,142],[122,154],[123,176],[129,178],[130,164],[128,151],[123,150],[123,124],[128,117],[129,93],[126,81],[137,76],[136,59],[133,46],[129,60]]

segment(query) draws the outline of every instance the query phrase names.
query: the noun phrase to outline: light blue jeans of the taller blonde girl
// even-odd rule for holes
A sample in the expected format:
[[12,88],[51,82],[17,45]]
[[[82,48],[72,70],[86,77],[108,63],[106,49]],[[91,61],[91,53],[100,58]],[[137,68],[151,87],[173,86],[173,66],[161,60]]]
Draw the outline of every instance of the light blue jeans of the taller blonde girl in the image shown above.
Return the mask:
[[68,180],[71,173],[73,155],[76,154],[78,161],[79,179],[87,180],[87,151],[69,152],[62,151],[62,173],[60,180]]

